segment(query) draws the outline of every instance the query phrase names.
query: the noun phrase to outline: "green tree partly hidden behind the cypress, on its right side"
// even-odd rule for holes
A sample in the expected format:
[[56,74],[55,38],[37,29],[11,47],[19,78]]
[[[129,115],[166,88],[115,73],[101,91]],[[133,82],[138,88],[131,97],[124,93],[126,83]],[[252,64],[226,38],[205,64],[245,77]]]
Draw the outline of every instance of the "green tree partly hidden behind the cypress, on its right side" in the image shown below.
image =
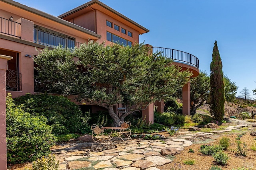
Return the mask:
[[238,90],[238,86],[236,86],[236,83],[232,82],[227,75],[224,75],[223,80],[225,100],[227,102],[232,102],[236,99],[236,91]]

